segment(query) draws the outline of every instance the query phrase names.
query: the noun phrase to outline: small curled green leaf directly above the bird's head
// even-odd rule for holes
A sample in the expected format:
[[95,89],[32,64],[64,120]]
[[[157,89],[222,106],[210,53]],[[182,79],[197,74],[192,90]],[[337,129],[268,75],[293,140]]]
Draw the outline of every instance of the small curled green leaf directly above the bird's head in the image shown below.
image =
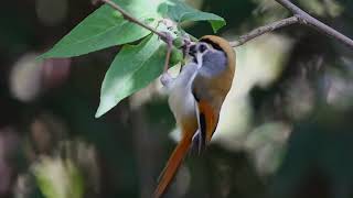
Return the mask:
[[179,23],[186,21],[208,21],[214,32],[217,32],[226,24],[223,18],[213,13],[199,11],[180,0],[170,0],[167,15]]

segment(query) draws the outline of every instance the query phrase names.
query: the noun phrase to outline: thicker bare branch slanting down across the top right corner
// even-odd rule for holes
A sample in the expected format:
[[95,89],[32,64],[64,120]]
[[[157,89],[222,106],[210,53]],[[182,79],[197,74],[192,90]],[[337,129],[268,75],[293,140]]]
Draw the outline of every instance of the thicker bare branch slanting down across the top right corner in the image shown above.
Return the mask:
[[301,10],[299,7],[290,2],[289,0],[276,0],[278,3],[280,3],[282,7],[288,9],[293,15],[297,15],[299,19],[299,22],[301,24],[310,25],[315,28],[318,31],[323,32],[342,43],[344,43],[346,46],[353,48],[353,41],[343,35],[342,33],[338,32],[336,30],[330,28],[329,25],[322,23],[321,21],[317,20],[315,18],[311,16],[303,10]]

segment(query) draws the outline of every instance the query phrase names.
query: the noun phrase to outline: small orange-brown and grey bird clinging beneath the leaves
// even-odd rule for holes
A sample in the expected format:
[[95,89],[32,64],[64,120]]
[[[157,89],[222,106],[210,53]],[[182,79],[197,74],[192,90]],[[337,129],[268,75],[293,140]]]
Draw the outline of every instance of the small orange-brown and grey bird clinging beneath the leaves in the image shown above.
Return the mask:
[[176,78],[165,73],[161,81],[169,89],[169,106],[182,139],[161,173],[154,198],[160,198],[190,148],[205,150],[216,130],[221,107],[235,72],[235,52],[227,41],[203,36],[190,47],[190,61]]

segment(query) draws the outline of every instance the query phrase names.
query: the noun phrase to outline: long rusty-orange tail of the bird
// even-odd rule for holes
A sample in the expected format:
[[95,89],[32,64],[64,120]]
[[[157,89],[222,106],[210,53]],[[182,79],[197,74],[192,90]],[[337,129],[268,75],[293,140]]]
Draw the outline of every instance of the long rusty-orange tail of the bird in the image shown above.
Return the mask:
[[180,143],[174,148],[170,156],[163,172],[161,173],[158,186],[154,190],[154,198],[160,198],[164,193],[172,179],[174,178],[178,168],[180,167],[186,152],[191,145],[192,136],[184,135]]

